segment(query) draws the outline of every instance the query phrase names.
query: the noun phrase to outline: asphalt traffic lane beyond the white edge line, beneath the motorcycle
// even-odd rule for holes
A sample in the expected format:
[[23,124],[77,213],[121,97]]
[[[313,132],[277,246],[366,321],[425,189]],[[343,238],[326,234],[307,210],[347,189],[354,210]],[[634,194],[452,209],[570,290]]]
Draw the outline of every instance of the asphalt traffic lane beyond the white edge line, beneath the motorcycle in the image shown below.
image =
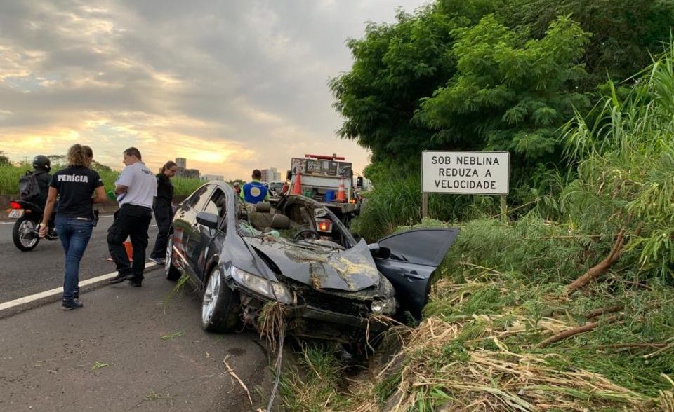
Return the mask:
[[[111,224],[112,215],[107,215],[93,228],[79,266],[79,280],[114,272],[114,263],[105,260],[110,257],[105,238]],[[42,239],[31,252],[21,252],[12,242],[12,226],[13,221],[0,221],[0,303],[63,286],[65,257],[60,242]],[[154,220],[149,234],[147,256],[157,238]]]

